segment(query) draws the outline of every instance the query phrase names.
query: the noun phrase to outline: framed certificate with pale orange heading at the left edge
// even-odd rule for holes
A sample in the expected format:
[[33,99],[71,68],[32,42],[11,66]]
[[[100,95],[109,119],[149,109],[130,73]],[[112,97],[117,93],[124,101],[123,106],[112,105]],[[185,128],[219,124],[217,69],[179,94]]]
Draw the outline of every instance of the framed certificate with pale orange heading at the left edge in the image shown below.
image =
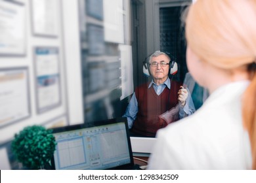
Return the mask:
[[29,116],[28,69],[0,69],[0,128]]

